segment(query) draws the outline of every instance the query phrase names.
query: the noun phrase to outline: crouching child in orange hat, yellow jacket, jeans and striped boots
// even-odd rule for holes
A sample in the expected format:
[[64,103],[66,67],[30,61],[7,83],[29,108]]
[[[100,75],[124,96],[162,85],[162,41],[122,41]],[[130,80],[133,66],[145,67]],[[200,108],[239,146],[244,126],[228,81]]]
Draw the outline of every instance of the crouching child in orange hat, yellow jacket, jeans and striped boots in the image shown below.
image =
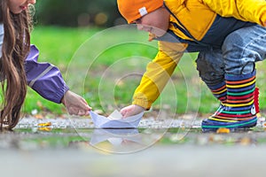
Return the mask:
[[[266,57],[264,0],[118,0],[121,15],[159,41],[124,117],[149,109],[185,51],[199,51],[197,69],[221,106],[203,130],[256,125],[255,62]],[[168,36],[171,37],[168,37]],[[173,38],[175,40],[173,40]]]

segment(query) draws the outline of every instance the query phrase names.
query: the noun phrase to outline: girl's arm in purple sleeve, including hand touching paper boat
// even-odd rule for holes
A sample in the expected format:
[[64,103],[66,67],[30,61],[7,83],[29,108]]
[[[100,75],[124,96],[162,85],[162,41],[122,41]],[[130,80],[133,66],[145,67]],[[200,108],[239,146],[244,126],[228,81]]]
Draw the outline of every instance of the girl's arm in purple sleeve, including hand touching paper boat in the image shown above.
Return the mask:
[[69,90],[59,68],[50,63],[37,62],[38,57],[39,50],[32,45],[25,61],[27,85],[45,99],[64,104],[69,114],[89,115],[90,106],[82,96]]

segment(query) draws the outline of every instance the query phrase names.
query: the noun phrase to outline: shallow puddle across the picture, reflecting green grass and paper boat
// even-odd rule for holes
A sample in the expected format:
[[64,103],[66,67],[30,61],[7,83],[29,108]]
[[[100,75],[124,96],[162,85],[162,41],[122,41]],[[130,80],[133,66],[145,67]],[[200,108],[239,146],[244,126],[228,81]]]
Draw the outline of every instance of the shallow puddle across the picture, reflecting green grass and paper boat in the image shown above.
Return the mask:
[[260,146],[265,145],[264,127],[230,134],[202,133],[201,128],[14,128],[0,133],[0,150],[80,149],[103,153],[132,153],[151,146]]

